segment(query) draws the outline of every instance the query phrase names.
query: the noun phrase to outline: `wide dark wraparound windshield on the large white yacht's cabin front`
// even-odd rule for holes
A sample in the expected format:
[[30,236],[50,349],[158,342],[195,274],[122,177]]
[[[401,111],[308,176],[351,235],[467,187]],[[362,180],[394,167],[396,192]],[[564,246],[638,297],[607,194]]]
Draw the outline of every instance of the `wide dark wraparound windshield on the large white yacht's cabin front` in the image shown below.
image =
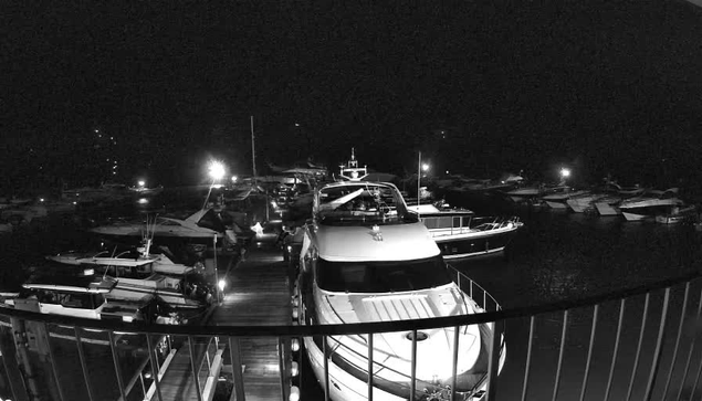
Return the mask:
[[331,292],[407,292],[433,288],[451,282],[441,256],[392,262],[317,261],[317,285]]

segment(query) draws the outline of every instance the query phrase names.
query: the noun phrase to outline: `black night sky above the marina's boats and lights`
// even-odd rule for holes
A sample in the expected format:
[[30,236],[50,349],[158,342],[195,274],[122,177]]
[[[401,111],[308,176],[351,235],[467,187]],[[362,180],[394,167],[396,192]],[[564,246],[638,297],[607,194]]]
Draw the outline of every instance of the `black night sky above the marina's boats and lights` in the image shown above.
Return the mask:
[[210,157],[251,173],[250,115],[262,171],[355,146],[399,175],[421,150],[471,177],[702,178],[684,1],[15,1],[0,31],[4,189],[103,179],[106,152],[127,183],[195,183]]

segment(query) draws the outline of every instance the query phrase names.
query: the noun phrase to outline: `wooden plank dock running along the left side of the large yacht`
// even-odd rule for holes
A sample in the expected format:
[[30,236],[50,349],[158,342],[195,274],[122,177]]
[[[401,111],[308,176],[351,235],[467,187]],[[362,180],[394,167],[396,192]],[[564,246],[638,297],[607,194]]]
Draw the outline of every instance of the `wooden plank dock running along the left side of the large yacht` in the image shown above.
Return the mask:
[[[228,288],[223,300],[209,315],[205,325],[261,326],[291,325],[291,278],[289,264],[276,247],[251,247],[245,256],[228,266]],[[221,278],[221,277],[220,277]],[[196,341],[197,342],[197,341]],[[226,342],[220,344],[223,348]],[[196,367],[207,358],[206,346],[193,345]],[[211,348],[211,347],[210,347]],[[160,383],[163,399],[197,400],[190,367],[190,347],[186,341],[176,352]],[[211,353],[211,352],[210,352]],[[279,341],[276,338],[241,338],[239,356],[243,365],[243,393],[249,401],[282,400]],[[219,350],[219,366],[232,371],[229,350]],[[226,359],[226,360],[224,360]],[[209,363],[209,362],[208,362]],[[212,363],[212,366],[214,366]],[[196,368],[197,369],[197,368]],[[201,377],[201,371],[199,377]],[[219,368],[218,374],[219,376]],[[203,378],[205,379],[205,378]],[[205,390],[205,381],[200,388]],[[217,377],[213,378],[214,384]],[[211,397],[207,392],[203,400]],[[211,399],[211,398],[210,398]]]

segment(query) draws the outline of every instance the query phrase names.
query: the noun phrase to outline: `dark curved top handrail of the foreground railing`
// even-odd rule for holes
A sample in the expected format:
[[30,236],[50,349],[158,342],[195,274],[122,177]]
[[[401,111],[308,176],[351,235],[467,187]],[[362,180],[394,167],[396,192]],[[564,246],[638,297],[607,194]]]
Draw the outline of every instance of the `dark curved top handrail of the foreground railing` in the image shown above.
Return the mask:
[[507,308],[499,312],[486,312],[472,315],[432,317],[416,320],[374,321],[356,324],[314,325],[314,326],[176,326],[147,325],[143,323],[125,324],[121,321],[94,320],[88,318],[40,314],[12,308],[0,309],[0,315],[18,317],[33,321],[61,324],[64,326],[81,326],[88,329],[118,330],[134,334],[170,334],[191,336],[245,336],[245,337],[307,337],[307,336],[339,336],[367,333],[409,331],[413,329],[432,329],[447,326],[467,326],[492,323],[509,318],[526,317],[551,312],[593,306],[607,300],[621,299],[635,295],[646,294],[657,289],[672,287],[702,277],[702,272],[688,273],[674,278],[668,278],[652,284],[643,284],[614,293],[593,295],[580,299],[558,300],[555,303]]

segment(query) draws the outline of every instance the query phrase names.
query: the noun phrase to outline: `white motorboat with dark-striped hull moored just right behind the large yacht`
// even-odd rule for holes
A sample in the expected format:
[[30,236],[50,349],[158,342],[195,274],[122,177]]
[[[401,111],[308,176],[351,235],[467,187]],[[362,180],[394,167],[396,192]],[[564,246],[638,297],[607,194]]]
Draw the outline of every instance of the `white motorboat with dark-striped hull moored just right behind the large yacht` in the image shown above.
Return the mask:
[[518,218],[475,217],[467,209],[408,207],[417,212],[443,258],[463,258],[504,251],[523,225]]

